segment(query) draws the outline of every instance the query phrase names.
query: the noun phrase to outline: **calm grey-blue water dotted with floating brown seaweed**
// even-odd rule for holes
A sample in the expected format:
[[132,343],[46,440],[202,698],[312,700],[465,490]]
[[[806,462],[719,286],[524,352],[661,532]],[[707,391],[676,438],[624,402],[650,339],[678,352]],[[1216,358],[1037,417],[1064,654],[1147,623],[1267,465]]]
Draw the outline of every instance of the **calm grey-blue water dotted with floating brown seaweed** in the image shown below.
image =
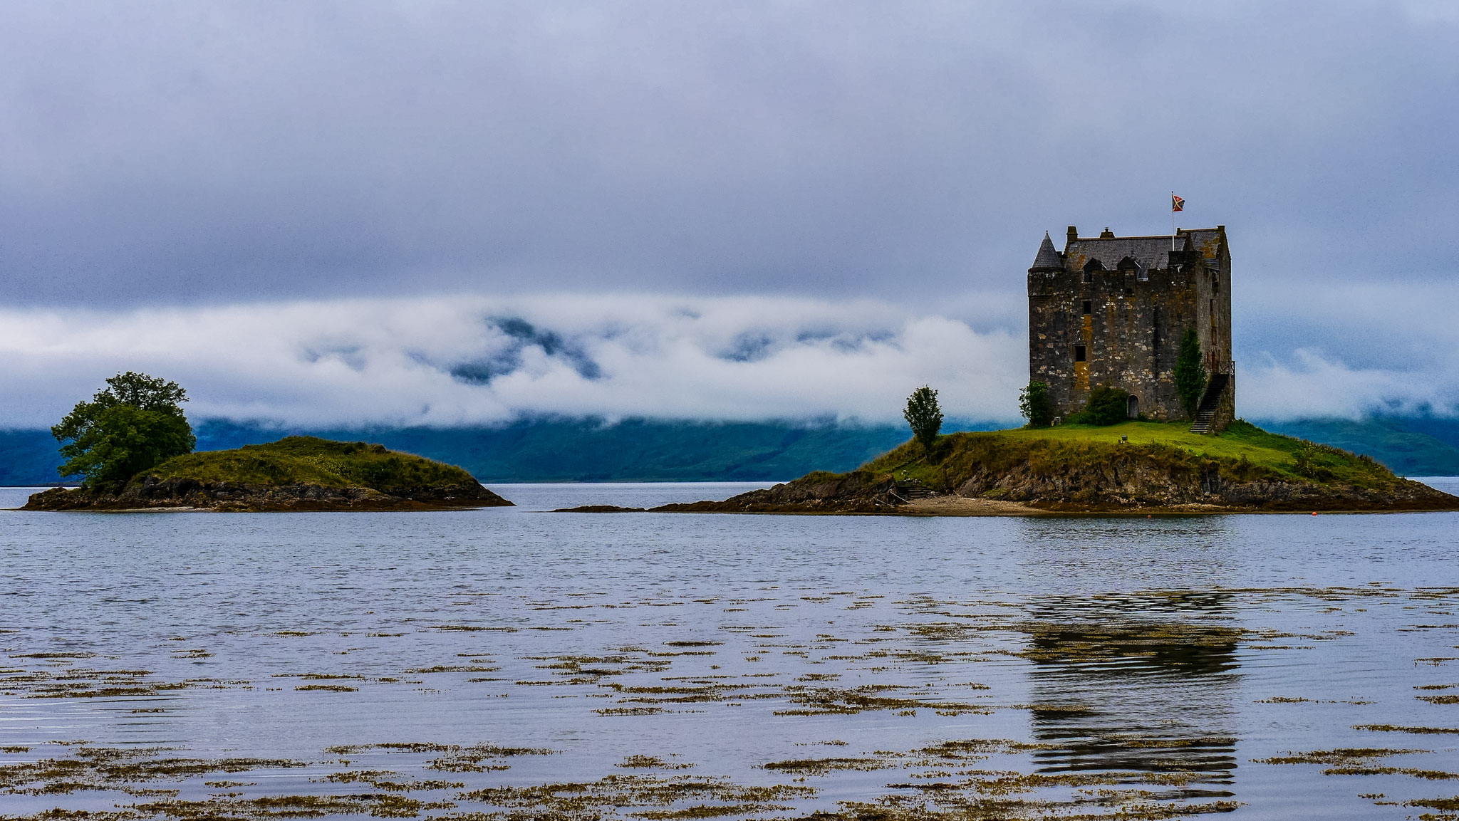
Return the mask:
[[1459,806],[1456,513],[544,512],[748,487],[0,512],[0,817]]

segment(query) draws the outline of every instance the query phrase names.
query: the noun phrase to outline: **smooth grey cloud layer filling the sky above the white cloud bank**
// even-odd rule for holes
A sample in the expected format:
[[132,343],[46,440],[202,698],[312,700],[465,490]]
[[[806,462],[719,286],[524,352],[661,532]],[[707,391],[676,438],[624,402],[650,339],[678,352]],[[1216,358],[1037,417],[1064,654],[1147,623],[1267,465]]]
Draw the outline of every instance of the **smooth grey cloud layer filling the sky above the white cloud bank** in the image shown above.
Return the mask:
[[1042,230],[1452,267],[1434,3],[9,4],[12,305],[658,290],[940,305]]

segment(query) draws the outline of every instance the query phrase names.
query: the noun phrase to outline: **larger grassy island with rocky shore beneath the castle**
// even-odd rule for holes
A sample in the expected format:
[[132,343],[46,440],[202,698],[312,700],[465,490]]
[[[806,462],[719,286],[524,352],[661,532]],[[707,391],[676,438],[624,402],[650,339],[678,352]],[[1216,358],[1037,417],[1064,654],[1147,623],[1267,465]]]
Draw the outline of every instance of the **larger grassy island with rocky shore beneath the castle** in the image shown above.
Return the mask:
[[[581,512],[608,512],[604,507]],[[623,510],[623,509],[616,509]],[[1189,423],[1125,421],[916,439],[843,474],[817,471],[665,513],[1262,513],[1459,510],[1459,497],[1379,462],[1242,420],[1218,436]]]

